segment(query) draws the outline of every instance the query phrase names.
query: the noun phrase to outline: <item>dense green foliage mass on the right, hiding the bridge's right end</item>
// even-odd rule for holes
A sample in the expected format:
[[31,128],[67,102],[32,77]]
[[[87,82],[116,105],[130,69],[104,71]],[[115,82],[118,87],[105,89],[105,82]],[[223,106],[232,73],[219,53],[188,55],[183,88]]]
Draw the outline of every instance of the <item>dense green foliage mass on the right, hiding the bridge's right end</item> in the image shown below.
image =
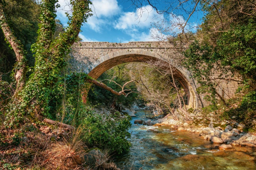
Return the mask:
[[[256,89],[255,13],[250,8],[253,4],[247,1],[239,3],[220,0],[213,6],[201,1],[201,9],[206,15],[197,32],[203,36],[200,42],[195,41],[184,52],[185,66],[200,83],[197,91],[205,93],[206,100],[213,105],[217,97],[222,99],[215,89],[218,82],[214,79],[232,78],[240,74],[243,86],[237,92],[243,92],[246,88],[249,91]],[[247,6],[249,15],[238,12],[241,5]],[[222,101],[225,104],[224,99]]]

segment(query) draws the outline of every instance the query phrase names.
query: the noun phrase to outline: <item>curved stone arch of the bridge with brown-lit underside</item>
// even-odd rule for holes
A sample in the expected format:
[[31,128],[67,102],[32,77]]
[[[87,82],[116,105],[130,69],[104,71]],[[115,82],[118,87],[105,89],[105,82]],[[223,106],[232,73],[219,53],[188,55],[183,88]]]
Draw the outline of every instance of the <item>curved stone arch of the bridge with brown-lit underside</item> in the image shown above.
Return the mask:
[[[90,64],[84,72],[92,78],[97,79],[105,71],[116,65],[128,62],[147,62],[150,60],[166,61],[166,56],[160,56],[156,52],[145,49],[118,50],[101,56],[95,62]],[[203,107],[200,96],[196,92],[196,81],[191,78],[190,72],[180,66],[177,68],[175,77],[179,78],[180,84],[187,93],[187,105],[193,108]]]

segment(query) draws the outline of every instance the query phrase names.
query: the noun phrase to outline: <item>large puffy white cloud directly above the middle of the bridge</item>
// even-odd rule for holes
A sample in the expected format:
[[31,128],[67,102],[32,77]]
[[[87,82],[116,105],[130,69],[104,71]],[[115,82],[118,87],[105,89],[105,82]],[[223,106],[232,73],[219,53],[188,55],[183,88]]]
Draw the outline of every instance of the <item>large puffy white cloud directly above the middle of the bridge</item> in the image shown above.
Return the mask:
[[159,21],[160,18],[155,9],[151,6],[138,8],[135,12],[125,12],[117,21],[114,28],[116,29],[133,29],[149,28],[151,22]]

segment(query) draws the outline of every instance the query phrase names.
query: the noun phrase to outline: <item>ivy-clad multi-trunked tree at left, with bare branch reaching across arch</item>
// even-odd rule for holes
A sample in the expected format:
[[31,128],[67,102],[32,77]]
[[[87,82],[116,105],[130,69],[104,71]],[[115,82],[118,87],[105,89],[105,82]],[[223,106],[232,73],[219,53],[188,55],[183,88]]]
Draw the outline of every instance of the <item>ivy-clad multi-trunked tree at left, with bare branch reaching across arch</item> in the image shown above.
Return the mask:
[[[60,69],[65,66],[65,55],[77,40],[81,25],[91,16],[89,4],[91,1],[70,0],[72,14],[68,16],[68,26],[55,39],[56,4],[58,0],[43,0],[36,43],[31,46],[34,53],[35,66],[33,73],[26,81],[26,50],[16,38],[6,18],[4,0],[0,0],[0,26],[10,48],[14,50],[17,63],[15,65],[16,89],[9,102],[6,125],[12,126],[26,121],[26,118],[38,120],[48,116],[49,100],[52,88],[58,81]],[[126,94],[124,90],[116,92],[103,83],[97,82],[89,76],[83,77],[90,83],[105,88],[117,95]]]

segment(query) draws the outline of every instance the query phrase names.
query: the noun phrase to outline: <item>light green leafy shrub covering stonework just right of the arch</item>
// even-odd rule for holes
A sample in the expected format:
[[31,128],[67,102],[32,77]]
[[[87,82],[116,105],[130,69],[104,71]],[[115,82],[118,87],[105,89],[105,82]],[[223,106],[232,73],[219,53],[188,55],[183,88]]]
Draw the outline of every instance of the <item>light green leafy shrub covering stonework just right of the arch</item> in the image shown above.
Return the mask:
[[[184,52],[186,60],[184,66],[187,67],[193,74],[193,77],[200,84],[197,88],[198,93],[207,93],[205,99],[216,103],[216,83],[211,81],[213,69],[224,71],[221,65],[216,63],[219,60],[219,55],[214,50],[213,46],[208,44],[199,44],[198,41],[193,42],[189,49]],[[217,68],[216,68],[217,67]],[[222,75],[220,75],[221,77]]]

